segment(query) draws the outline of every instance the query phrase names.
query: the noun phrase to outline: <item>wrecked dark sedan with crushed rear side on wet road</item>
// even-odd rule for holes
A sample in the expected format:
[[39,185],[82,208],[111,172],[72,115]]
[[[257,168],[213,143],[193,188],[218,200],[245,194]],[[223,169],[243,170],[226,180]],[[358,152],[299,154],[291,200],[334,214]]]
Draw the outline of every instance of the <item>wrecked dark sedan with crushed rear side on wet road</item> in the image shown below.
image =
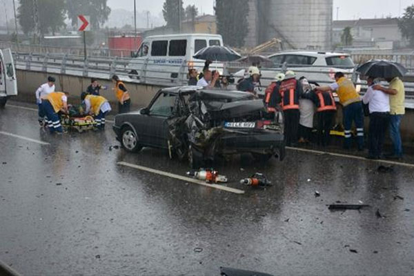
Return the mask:
[[165,88],[147,108],[117,115],[113,129],[128,152],[165,148],[193,168],[246,152],[259,161],[285,156],[282,112],[267,112],[246,92]]

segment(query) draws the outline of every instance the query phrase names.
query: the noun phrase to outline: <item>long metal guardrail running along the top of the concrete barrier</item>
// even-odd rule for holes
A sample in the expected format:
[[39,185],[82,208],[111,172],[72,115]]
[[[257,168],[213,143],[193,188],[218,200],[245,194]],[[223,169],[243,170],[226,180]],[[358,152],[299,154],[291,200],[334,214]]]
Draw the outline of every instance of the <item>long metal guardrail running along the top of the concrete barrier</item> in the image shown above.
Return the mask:
[[[186,61],[173,60],[165,61],[162,59],[131,59],[120,57],[89,57],[83,60],[83,57],[72,55],[57,54],[39,54],[14,52],[14,61],[17,68],[23,70],[34,70],[41,72],[50,72],[66,75],[75,75],[82,77],[97,77],[101,79],[110,79],[116,74],[125,81],[146,83],[161,86],[181,86],[186,85],[188,68],[197,68],[199,71],[204,67],[204,61]],[[275,71],[286,72],[290,68],[295,68],[297,75],[313,74],[326,79],[309,79],[320,84],[332,83],[332,77],[335,72],[332,66],[303,66],[277,64],[276,68],[261,68],[262,75],[274,75]],[[242,69],[246,69],[246,64],[238,62],[229,63],[212,63],[211,70],[219,70],[228,75],[229,72],[234,73]],[[312,70],[310,69],[312,67]],[[303,68],[303,69],[302,69]],[[335,66],[335,70],[342,69],[345,75],[351,77],[355,84],[363,87],[366,82],[360,81],[356,73],[357,66]],[[414,68],[408,68],[409,72],[414,72]],[[269,74],[265,74],[268,71]],[[273,77],[263,77],[262,80],[270,82]],[[264,82],[266,82],[264,81]],[[414,81],[414,79],[413,79]],[[414,82],[404,83],[408,88],[407,97],[414,99]]]

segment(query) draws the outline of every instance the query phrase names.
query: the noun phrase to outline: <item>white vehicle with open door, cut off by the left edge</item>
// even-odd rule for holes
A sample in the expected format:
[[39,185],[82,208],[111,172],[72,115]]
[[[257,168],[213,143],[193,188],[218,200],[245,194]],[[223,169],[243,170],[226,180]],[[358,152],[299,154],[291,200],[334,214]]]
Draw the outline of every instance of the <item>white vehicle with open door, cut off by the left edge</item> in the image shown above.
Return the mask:
[[17,95],[17,79],[12,50],[0,50],[0,107],[6,106],[9,96],[15,95]]

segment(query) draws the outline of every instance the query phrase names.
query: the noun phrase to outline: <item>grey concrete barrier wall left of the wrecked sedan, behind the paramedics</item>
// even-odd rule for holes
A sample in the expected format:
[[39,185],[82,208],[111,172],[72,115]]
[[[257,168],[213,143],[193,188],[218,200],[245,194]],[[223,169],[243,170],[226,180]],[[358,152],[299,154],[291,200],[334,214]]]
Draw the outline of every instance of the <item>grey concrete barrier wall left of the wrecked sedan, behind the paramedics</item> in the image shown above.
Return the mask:
[[[89,77],[77,77],[70,75],[60,75],[46,72],[35,72],[28,70],[17,70],[17,86],[19,88],[19,95],[16,97],[18,101],[35,102],[34,92],[39,88],[39,85],[45,83],[48,76],[56,78],[56,91],[69,92],[69,103],[80,103],[81,92],[86,91],[90,85]],[[110,101],[112,110],[117,112],[117,99],[112,90],[114,84],[108,79],[98,79],[99,83],[107,86],[107,90],[101,90],[101,95]],[[125,83],[126,88],[130,92],[132,108],[139,108],[147,106],[150,100],[154,97],[157,91],[162,86],[153,86],[139,83]]]

